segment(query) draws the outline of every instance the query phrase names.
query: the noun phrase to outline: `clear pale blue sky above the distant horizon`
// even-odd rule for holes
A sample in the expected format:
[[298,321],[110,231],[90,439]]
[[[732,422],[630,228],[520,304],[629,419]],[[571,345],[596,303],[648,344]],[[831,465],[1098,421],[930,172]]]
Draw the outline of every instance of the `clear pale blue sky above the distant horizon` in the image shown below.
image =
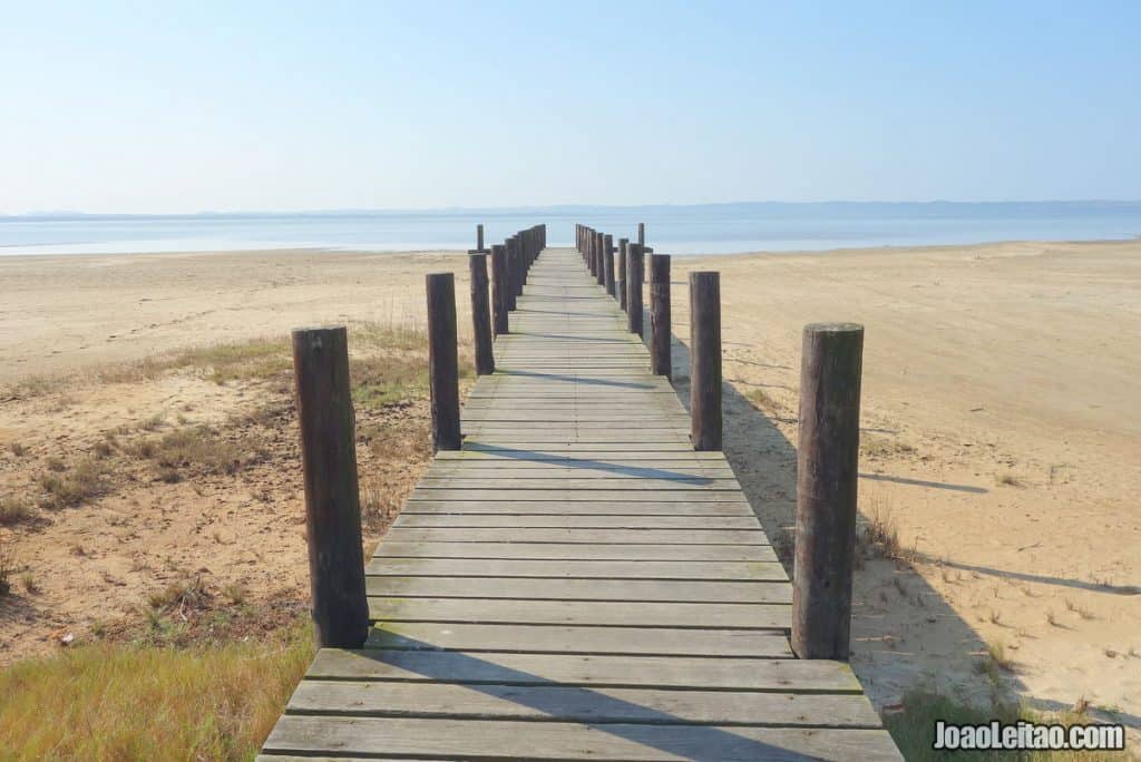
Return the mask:
[[0,212],[1141,198],[1141,2],[21,2]]

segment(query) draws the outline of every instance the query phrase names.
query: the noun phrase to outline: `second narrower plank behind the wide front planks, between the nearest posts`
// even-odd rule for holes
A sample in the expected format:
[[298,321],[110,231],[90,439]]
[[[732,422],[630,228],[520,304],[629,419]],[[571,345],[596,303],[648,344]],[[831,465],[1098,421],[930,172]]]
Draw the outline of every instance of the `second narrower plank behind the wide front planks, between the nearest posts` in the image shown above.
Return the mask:
[[573,624],[620,627],[786,630],[790,603],[678,603],[501,598],[370,598],[374,622]]

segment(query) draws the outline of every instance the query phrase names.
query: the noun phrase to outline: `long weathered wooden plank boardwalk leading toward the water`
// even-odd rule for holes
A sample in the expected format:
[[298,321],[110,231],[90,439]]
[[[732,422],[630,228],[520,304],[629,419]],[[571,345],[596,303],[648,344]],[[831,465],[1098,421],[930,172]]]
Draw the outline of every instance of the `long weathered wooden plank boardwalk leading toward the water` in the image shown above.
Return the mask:
[[733,470],[573,249],[495,354],[367,562],[367,647],[317,654],[259,759],[901,759],[848,665],[793,656]]

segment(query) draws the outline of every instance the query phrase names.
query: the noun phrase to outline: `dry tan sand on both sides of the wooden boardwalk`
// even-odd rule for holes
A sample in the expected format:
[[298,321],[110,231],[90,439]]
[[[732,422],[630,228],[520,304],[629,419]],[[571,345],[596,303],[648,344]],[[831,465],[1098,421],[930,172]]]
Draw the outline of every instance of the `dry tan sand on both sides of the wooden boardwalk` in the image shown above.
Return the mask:
[[[794,501],[801,327],[866,325],[860,503],[904,548],[857,573],[853,665],[877,705],[928,682],[985,700],[977,665],[1001,643],[1013,671],[1000,691],[1141,722],[1141,242],[678,258],[683,341],[698,268],[721,271],[727,452],[775,541]],[[114,425],[187,407],[224,418],[261,394],[186,374],[99,384],[94,370],[301,324],[419,324],[422,276],[445,269],[468,335],[462,254],[0,258],[0,384],[75,376],[0,400],[0,486]],[[42,591],[7,605],[0,660],[129,611],[163,569],[302,595],[300,481],[286,444],[281,456],[236,487],[144,481],[8,530]]]

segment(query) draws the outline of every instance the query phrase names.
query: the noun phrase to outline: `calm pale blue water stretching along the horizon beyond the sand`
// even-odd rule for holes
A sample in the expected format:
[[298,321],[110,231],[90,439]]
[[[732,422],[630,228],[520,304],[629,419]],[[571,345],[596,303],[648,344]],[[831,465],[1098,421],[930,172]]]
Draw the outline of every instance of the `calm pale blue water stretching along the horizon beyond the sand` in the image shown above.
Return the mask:
[[823,250],[1011,240],[1141,236],[1141,202],[743,203],[701,206],[560,206],[492,211],[297,214],[0,217],[0,254],[177,252],[264,249],[406,251],[475,246],[548,224],[552,244],[585,222],[667,253]]

